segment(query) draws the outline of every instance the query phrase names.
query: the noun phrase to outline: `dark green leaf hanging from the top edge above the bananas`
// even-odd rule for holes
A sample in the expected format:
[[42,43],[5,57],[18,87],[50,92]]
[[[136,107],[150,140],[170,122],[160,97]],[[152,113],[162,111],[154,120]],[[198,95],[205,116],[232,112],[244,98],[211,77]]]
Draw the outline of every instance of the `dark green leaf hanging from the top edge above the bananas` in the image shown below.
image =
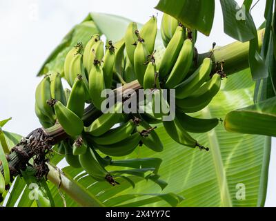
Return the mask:
[[177,18],[188,28],[210,35],[215,14],[214,0],[160,0],[155,8]]

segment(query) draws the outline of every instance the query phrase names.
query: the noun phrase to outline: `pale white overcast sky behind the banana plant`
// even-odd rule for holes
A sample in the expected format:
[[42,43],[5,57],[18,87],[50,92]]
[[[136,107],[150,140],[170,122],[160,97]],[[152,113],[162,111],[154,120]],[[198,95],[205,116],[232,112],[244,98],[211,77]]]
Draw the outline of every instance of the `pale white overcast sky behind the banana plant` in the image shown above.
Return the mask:
[[[219,1],[215,2],[213,30],[210,37],[199,34],[199,52],[208,51],[214,41],[218,46],[234,41],[224,34],[221,8]],[[110,13],[145,23],[157,14],[157,3],[158,0],[0,0],[0,119],[12,117],[5,130],[27,135],[40,127],[34,114],[34,91],[41,79],[35,76],[50,52],[88,12]],[[264,21],[264,6],[265,1],[261,0],[252,10],[257,27]],[[158,12],[159,27],[161,15]],[[275,146],[274,139],[266,206],[276,206],[276,177],[272,173],[276,168]]]

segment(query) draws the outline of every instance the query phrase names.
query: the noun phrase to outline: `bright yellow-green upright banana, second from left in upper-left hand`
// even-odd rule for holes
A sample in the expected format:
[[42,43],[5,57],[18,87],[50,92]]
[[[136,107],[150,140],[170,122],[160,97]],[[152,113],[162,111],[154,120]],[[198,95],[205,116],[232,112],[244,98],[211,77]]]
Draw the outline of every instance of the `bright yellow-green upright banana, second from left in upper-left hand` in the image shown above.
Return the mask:
[[[92,51],[93,46],[100,41],[99,34],[95,34],[91,37],[91,39],[88,41],[86,44],[86,47],[84,48],[83,51],[83,66],[86,68],[86,72],[89,74],[91,70],[91,66],[93,64],[93,60],[95,59],[95,53]],[[99,44],[98,44],[99,46]]]

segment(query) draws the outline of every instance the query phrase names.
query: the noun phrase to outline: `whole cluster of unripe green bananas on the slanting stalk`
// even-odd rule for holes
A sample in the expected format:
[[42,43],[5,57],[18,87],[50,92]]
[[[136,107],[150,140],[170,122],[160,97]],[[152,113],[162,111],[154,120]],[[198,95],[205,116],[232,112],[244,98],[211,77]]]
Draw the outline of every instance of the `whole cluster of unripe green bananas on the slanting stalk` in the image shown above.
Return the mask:
[[[166,50],[158,65],[155,63],[156,35],[157,17],[154,16],[141,30],[137,23],[130,23],[124,38],[114,45],[107,41],[104,47],[100,36],[93,35],[86,46],[78,43],[68,52],[62,76],[49,73],[37,86],[35,112],[42,126],[60,124],[70,136],[56,144],[57,151],[66,155],[68,164],[82,167],[97,180],[116,183],[105,169],[110,164],[109,156],[128,155],[141,144],[153,151],[163,150],[156,127],[150,124],[162,122],[168,135],[179,144],[204,149],[188,132],[204,133],[219,122],[216,118],[197,119],[187,115],[207,106],[221,84],[221,75],[216,73],[210,77],[213,66],[210,57],[197,70],[193,69],[196,30],[189,30],[164,14],[161,37]],[[61,77],[71,90],[63,89]],[[115,113],[102,113],[92,124],[83,124],[81,117],[86,103],[101,110],[104,89],[114,89],[117,83],[126,84],[136,79],[152,93],[152,114],[120,113],[123,102],[117,102]],[[168,100],[154,99],[162,97],[165,89],[175,89],[176,113],[172,121],[162,121],[161,117],[168,113],[155,113],[158,105],[170,106]],[[156,100],[160,103],[156,104]],[[108,156],[101,157],[97,151]]]

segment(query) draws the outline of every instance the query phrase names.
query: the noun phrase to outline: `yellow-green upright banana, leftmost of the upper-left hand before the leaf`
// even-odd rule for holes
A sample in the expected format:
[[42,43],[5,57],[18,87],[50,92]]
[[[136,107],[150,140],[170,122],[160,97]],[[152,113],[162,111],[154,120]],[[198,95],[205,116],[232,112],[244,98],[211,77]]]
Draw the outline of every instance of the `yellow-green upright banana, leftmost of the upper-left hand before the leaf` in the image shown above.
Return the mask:
[[83,68],[81,66],[83,57],[81,55],[82,49],[83,45],[78,43],[67,53],[64,61],[64,78],[71,88],[77,75],[83,75]]

